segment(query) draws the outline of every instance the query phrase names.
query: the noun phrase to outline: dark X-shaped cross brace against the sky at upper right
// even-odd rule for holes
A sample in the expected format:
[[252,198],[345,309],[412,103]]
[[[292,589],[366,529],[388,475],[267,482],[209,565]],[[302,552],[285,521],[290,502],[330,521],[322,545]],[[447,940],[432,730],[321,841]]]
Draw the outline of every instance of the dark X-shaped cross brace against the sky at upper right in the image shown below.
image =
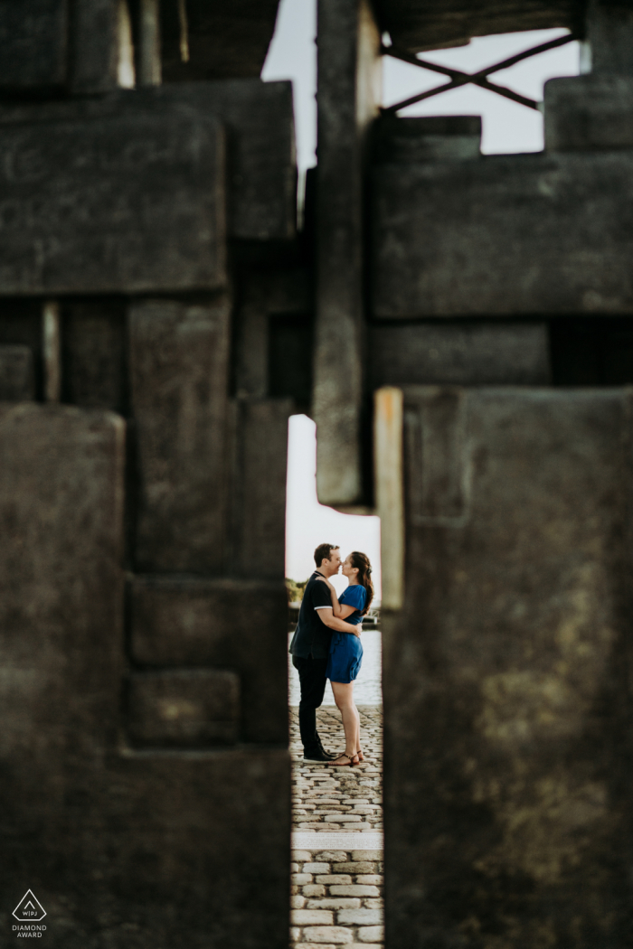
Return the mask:
[[581,39],[581,37],[578,34],[569,33],[568,36],[560,36],[557,40],[550,40],[549,43],[543,43],[540,47],[526,49],[522,53],[517,53],[516,56],[511,56],[510,59],[503,60],[503,62],[496,63],[495,65],[486,66],[485,69],[480,69],[478,72],[472,74],[462,72],[460,69],[451,69],[445,65],[438,65],[437,63],[430,63],[428,60],[419,59],[414,53],[409,53],[405,49],[383,46],[381,47],[381,52],[384,56],[392,56],[394,59],[402,60],[403,63],[419,65],[421,69],[430,69],[432,72],[440,72],[444,76],[449,76],[451,82],[445,85],[439,85],[434,89],[428,89],[426,92],[420,92],[419,95],[411,96],[410,99],[404,99],[402,102],[396,102],[394,105],[382,108],[382,114],[389,115],[399,112],[400,109],[405,108],[407,105],[413,105],[414,102],[422,102],[423,99],[431,99],[432,96],[438,96],[441,92],[448,92],[449,89],[456,89],[460,85],[468,84],[479,85],[482,89],[488,89],[490,92],[496,92],[497,95],[504,96],[506,99],[512,99],[512,102],[518,102],[520,105],[526,105],[530,109],[538,110],[539,103],[535,102],[535,100],[529,99],[527,96],[522,96],[519,92],[514,92],[513,89],[506,88],[505,85],[490,83],[488,77],[493,72],[507,69],[511,65],[520,63],[522,60],[528,59],[531,56],[538,56],[539,53],[547,52],[548,49],[554,49],[555,47],[564,47],[573,40],[579,39]]

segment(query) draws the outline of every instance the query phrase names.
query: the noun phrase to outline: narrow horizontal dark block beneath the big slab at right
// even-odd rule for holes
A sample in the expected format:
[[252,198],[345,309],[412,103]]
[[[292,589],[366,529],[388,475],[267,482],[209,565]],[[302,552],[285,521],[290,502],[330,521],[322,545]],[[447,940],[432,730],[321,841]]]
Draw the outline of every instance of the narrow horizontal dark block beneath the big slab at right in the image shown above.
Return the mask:
[[371,388],[382,385],[543,385],[550,379],[543,323],[406,323],[369,329]]

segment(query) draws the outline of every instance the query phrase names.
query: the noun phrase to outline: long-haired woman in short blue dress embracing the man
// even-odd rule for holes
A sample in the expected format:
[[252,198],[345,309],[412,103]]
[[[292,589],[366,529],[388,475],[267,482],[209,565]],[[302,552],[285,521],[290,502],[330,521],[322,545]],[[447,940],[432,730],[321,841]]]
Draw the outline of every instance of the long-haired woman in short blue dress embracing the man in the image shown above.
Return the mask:
[[[343,574],[348,586],[337,599],[336,590],[325,579],[332,597],[332,610],[345,623],[360,625],[374,597],[371,582],[371,564],[364,553],[354,550],[345,559]],[[332,692],[341,716],[345,732],[345,753],[328,764],[332,768],[346,768],[364,761],[361,748],[361,719],[354,704],[354,679],[361,671],[363,646],[360,636],[353,633],[335,632],[329,647],[326,678],[332,683]]]

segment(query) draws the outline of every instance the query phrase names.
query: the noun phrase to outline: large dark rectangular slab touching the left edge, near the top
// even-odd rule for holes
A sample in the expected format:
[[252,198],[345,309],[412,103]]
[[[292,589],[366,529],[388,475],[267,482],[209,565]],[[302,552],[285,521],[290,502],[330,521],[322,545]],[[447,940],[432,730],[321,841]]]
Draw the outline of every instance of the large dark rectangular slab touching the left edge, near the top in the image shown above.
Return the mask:
[[213,119],[4,124],[0,154],[0,293],[224,285],[224,136]]

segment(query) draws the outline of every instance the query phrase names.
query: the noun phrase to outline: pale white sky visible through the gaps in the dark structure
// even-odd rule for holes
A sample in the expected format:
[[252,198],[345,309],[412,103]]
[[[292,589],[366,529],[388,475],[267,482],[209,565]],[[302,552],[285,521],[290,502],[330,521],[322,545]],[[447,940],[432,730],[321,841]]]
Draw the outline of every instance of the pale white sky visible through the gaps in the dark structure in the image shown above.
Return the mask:
[[[468,47],[422,55],[441,65],[475,72],[477,68],[547,43],[566,32],[564,29],[542,29],[488,36],[473,40]],[[302,173],[315,164],[315,33],[316,0],[281,0],[275,35],[262,71],[264,80],[290,79],[294,84],[297,158]],[[540,101],[546,80],[579,73],[579,57],[578,44],[570,43],[495,73],[491,80]],[[382,104],[400,102],[445,82],[447,80],[437,73],[385,57]],[[540,113],[475,86],[466,86],[411,105],[400,115],[481,115],[482,150],[489,155],[538,152],[543,148],[543,117]],[[287,576],[305,580],[313,569],[313,549],[321,543],[339,544],[343,554],[360,549],[368,555],[380,597],[380,521],[377,517],[340,514],[320,505],[316,499],[315,457],[314,423],[306,416],[294,416],[289,425]],[[345,586],[344,580],[340,586]]]

